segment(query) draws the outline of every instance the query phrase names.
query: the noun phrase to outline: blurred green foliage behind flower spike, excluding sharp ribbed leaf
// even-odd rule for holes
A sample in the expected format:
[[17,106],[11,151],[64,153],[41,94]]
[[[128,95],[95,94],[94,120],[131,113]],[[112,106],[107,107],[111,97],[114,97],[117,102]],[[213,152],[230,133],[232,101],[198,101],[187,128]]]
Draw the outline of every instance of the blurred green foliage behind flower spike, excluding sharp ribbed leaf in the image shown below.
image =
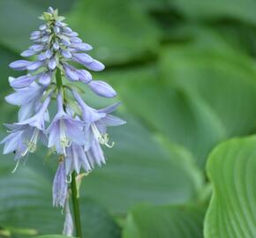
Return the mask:
[[[94,78],[119,93],[105,100],[85,86],[86,99],[94,107],[121,100],[128,122],[110,130],[107,165],[82,183],[84,236],[203,237],[207,156],[256,129],[256,2],[1,0],[1,124],[17,120],[18,108],[4,101],[8,76],[19,75],[8,64],[31,44],[49,5],[106,64]],[[1,156],[0,237],[61,234],[64,215],[51,206],[56,159],[46,154],[31,154],[13,175],[13,156]]]

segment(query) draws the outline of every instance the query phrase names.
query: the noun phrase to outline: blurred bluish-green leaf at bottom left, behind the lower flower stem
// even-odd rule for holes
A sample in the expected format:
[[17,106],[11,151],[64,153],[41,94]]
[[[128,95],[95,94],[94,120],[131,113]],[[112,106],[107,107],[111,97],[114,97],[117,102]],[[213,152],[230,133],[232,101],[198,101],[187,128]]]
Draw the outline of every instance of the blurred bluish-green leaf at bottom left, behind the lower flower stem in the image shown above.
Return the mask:
[[[40,156],[32,155],[29,160],[38,160],[43,168]],[[28,237],[29,234],[61,234],[64,214],[61,209],[52,207],[51,180],[45,169],[34,170],[20,165],[16,173],[11,174],[14,162],[11,156],[0,160],[0,224],[13,237]],[[49,179],[50,177],[50,179]],[[90,199],[80,199],[82,227],[85,237],[120,237],[117,224],[105,212],[102,206]],[[11,236],[11,237],[12,237]]]

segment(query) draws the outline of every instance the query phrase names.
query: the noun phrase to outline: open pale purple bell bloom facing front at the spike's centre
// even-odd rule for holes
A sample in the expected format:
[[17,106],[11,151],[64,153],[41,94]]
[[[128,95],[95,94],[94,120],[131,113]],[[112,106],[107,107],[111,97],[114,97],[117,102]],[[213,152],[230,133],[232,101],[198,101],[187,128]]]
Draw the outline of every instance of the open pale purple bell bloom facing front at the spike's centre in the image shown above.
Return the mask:
[[72,118],[64,112],[63,99],[59,93],[57,96],[58,112],[49,125],[49,147],[55,146],[56,152],[66,154],[66,147],[72,142],[77,145],[83,145],[85,141],[84,131],[82,129],[84,123]]

